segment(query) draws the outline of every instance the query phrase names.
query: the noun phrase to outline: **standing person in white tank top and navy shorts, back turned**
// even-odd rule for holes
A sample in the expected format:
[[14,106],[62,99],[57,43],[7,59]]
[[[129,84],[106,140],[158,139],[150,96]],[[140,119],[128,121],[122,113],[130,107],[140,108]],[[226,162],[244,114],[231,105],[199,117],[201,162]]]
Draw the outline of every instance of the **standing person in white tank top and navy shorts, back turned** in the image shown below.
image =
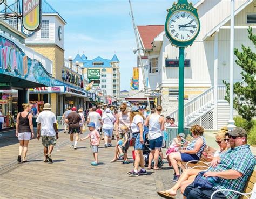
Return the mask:
[[149,134],[148,138],[150,140],[150,148],[151,152],[149,155],[149,166],[147,169],[152,169],[151,163],[152,159],[154,159],[154,170],[159,170],[157,167],[159,152],[163,143],[163,134],[165,119],[161,116],[162,107],[160,105],[156,108],[156,113],[151,114],[147,117],[145,126],[149,126]]

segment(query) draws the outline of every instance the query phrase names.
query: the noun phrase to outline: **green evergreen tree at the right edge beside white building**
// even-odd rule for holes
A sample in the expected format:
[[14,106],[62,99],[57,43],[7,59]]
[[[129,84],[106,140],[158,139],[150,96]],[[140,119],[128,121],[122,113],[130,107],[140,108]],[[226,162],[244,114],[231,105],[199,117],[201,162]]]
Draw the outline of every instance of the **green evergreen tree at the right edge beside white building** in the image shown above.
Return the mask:
[[[248,38],[256,45],[256,35],[252,33],[252,27],[248,28]],[[234,109],[238,111],[242,118],[251,122],[256,114],[256,54],[250,47],[242,45],[242,52],[234,48],[237,56],[235,63],[242,68],[242,82],[234,83]],[[225,100],[230,101],[230,83],[223,81],[227,87]]]

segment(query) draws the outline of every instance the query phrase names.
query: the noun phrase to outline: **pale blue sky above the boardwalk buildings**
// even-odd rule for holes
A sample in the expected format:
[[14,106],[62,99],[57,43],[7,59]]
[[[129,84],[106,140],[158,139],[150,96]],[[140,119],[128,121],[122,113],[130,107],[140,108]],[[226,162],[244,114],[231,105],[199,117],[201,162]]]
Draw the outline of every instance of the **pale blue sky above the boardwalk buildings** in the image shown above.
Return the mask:
[[[67,24],[64,27],[65,58],[77,53],[88,59],[101,56],[120,61],[121,90],[130,89],[137,48],[129,15],[129,0],[46,0]],[[177,1],[176,1],[177,2]],[[190,0],[188,0],[190,2]],[[197,0],[192,0],[192,3]],[[164,25],[173,0],[131,0],[136,25]]]

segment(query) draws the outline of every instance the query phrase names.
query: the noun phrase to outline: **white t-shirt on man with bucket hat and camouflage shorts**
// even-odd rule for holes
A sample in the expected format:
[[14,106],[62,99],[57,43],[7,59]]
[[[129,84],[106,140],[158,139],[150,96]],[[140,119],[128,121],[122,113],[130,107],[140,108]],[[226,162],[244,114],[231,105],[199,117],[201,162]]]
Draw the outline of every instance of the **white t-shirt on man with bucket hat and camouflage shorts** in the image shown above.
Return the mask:
[[36,122],[41,124],[41,136],[56,135],[53,123],[57,123],[57,120],[53,112],[44,110],[38,115]]

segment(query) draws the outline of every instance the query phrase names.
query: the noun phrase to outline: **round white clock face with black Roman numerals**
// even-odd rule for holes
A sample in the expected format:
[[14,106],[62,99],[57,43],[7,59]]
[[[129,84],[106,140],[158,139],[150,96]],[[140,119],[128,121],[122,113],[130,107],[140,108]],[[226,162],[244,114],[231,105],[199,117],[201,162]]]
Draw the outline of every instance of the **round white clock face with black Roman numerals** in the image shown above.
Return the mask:
[[193,39],[199,30],[199,22],[193,13],[178,11],[172,13],[168,22],[167,30],[171,37],[177,41],[185,42]]

